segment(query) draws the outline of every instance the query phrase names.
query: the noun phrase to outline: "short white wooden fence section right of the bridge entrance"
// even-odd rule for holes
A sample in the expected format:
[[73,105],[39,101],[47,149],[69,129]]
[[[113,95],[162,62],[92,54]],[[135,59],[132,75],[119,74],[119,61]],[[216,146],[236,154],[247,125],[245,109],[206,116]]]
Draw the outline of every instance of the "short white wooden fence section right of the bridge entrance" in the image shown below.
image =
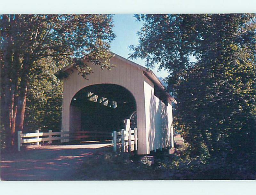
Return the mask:
[[138,149],[138,136],[137,136],[137,128],[133,130],[129,128],[128,132],[122,129],[121,131],[114,131],[112,133],[113,136],[113,151],[132,152]]

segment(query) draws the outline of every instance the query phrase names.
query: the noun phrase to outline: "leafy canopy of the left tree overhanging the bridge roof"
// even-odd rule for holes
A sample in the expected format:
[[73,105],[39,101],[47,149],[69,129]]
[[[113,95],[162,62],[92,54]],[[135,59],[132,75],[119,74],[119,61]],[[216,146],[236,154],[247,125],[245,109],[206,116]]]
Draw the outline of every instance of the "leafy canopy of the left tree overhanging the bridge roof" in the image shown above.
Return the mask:
[[[86,77],[86,63],[92,61],[109,68],[112,15],[62,14],[62,15],[3,15],[1,18],[2,50],[13,49],[21,62],[29,58],[29,68],[36,60],[51,56],[54,60],[68,58]],[[11,39],[10,39],[11,38]],[[29,56],[26,56],[26,54]],[[79,63],[77,59],[83,59]],[[18,64],[13,66],[18,70]]]

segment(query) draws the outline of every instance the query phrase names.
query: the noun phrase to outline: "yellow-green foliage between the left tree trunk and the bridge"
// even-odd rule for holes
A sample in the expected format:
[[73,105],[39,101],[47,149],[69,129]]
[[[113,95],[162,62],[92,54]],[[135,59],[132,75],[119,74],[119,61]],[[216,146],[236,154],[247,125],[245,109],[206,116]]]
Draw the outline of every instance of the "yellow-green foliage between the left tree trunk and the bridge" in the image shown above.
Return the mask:
[[24,132],[61,130],[63,82],[54,74],[64,66],[50,57],[36,63],[29,75]]

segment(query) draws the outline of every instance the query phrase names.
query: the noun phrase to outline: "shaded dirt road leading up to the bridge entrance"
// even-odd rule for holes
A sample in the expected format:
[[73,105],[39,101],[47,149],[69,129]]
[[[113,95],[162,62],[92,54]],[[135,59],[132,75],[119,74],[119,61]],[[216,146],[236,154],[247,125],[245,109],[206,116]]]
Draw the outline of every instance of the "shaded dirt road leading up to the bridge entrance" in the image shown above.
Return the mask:
[[49,145],[1,154],[1,180],[74,180],[84,160],[111,151],[112,144]]

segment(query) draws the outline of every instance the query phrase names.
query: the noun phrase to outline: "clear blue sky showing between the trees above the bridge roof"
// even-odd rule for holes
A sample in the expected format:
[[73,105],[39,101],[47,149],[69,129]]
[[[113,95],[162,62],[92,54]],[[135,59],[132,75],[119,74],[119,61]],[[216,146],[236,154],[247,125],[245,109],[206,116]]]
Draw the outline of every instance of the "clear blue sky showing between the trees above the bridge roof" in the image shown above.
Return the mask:
[[[133,14],[116,14],[113,16],[113,20],[115,25],[113,31],[116,34],[116,38],[111,43],[111,51],[124,58],[128,58],[129,53],[131,53],[128,46],[139,43],[136,33],[142,27],[143,22],[136,21]],[[133,59],[132,61],[141,66],[145,65],[145,61],[140,58]],[[157,68],[153,69],[153,72],[159,77],[166,77],[168,75],[167,71],[157,72]]]

